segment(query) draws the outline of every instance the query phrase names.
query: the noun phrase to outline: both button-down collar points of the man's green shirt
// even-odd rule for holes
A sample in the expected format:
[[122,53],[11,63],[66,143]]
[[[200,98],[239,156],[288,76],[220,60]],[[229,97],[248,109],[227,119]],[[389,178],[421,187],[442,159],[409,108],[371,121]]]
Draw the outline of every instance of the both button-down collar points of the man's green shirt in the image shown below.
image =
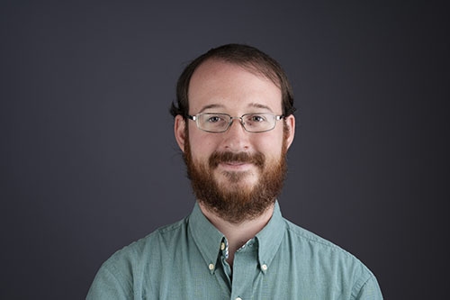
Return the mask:
[[[256,235],[260,266],[266,265],[267,268],[269,267],[284,238],[284,228],[284,218],[278,201],[276,201],[270,221]],[[193,206],[193,212],[189,217],[189,231],[202,253],[207,268],[212,272],[216,268],[220,243],[225,240],[225,236],[202,214],[202,210],[197,203]]]

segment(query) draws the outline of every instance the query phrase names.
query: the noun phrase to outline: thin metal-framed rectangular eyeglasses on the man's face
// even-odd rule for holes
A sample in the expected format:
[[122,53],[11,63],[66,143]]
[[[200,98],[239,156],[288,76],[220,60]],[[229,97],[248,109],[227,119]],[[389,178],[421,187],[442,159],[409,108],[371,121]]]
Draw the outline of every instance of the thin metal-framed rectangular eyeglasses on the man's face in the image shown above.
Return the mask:
[[269,132],[275,128],[276,121],[283,119],[284,115],[242,114],[240,117],[232,117],[229,114],[207,113],[188,114],[187,117],[195,121],[198,129],[203,132],[226,132],[234,119],[238,119],[247,132]]

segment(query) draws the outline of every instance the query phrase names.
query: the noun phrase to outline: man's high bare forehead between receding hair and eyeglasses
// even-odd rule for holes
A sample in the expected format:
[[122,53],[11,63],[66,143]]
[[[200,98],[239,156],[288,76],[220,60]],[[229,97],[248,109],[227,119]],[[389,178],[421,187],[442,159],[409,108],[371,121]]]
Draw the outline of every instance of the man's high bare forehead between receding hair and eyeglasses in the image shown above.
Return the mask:
[[259,106],[276,114],[282,112],[281,89],[271,79],[257,69],[218,59],[206,60],[193,72],[188,99],[191,114],[199,113],[206,106],[225,110]]

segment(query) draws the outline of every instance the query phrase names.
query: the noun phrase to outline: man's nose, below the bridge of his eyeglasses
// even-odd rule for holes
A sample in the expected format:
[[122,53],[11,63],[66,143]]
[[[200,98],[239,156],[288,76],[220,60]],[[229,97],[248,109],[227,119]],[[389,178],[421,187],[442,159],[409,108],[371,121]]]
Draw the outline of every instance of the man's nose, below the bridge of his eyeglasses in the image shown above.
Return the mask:
[[244,129],[242,118],[233,117],[227,132],[223,132],[223,147],[232,152],[245,151],[249,148],[248,132]]

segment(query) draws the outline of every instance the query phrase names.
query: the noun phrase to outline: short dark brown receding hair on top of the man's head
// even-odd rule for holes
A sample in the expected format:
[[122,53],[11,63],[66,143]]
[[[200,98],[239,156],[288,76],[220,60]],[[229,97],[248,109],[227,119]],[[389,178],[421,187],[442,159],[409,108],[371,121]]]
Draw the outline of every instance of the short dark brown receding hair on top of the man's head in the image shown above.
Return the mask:
[[218,48],[213,48],[202,54],[184,68],[183,73],[178,78],[176,84],[176,104],[172,103],[170,114],[174,117],[177,114],[186,118],[189,114],[189,99],[187,98],[189,83],[193,72],[207,59],[220,59],[236,64],[252,72],[258,72],[274,82],[275,86],[282,91],[283,114],[288,116],[295,112],[293,107],[293,88],[289,83],[283,68],[275,60],[255,47],[242,44],[227,44]]

